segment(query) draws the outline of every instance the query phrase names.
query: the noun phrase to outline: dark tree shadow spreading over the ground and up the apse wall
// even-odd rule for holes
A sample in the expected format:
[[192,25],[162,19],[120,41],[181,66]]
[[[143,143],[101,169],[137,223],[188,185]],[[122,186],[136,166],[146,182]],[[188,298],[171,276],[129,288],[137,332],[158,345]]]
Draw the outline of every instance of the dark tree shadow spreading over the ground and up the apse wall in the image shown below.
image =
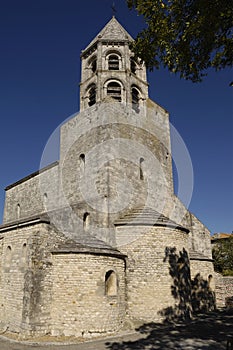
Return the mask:
[[[109,350],[233,350],[233,310],[217,311],[210,280],[200,274],[193,279],[185,249],[165,249],[164,263],[172,277],[174,304],[159,311],[163,323],[147,323],[136,329],[132,341],[108,342]],[[212,276],[209,275],[209,278]],[[231,340],[232,341],[232,340]]]

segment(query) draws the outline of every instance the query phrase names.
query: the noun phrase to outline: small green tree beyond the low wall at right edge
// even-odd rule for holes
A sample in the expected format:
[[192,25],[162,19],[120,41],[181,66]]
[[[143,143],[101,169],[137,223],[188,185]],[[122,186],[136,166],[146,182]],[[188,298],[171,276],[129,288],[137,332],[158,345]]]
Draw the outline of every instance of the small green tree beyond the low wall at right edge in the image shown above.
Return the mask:
[[233,234],[230,238],[219,239],[213,247],[215,271],[233,276]]

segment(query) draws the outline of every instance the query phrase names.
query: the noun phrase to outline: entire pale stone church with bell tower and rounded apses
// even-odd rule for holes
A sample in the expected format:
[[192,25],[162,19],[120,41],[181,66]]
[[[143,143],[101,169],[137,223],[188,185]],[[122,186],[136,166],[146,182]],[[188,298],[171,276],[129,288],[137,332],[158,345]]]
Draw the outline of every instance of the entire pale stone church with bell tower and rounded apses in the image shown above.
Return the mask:
[[6,188],[2,330],[114,333],[177,312],[177,281],[188,293],[196,276],[210,284],[210,233],[174,194],[169,114],[132,41],[113,17],[82,51],[59,160]]

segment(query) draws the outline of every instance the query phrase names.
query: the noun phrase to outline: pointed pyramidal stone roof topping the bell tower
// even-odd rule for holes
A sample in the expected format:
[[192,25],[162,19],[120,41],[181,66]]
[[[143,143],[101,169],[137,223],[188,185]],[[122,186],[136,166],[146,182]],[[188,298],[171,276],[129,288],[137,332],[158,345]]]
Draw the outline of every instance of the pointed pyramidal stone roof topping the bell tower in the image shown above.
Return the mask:
[[88,50],[97,41],[133,41],[131,35],[113,16],[105,27],[96,35],[84,51]]

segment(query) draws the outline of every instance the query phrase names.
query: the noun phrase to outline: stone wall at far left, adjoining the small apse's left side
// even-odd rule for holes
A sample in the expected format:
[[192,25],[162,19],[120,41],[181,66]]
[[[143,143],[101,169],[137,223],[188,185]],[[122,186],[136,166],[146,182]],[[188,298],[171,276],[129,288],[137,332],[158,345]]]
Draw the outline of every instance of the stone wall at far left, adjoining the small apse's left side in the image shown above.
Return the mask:
[[2,237],[1,321],[9,331],[45,334],[50,321],[50,249],[59,237],[50,225],[38,220],[9,226]]

